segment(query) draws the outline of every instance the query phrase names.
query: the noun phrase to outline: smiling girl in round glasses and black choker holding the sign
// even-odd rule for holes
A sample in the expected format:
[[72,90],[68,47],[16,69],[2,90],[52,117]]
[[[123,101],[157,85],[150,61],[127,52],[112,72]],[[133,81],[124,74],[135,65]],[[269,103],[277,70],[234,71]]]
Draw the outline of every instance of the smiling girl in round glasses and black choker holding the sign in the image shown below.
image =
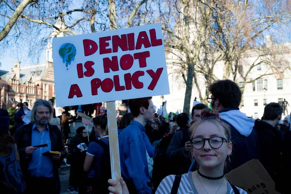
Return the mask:
[[[198,170],[182,176],[167,176],[160,183],[156,194],[247,194],[224,178],[224,168],[232,152],[232,143],[229,126],[220,119],[219,114],[204,109],[201,121],[194,123],[189,130],[192,134],[191,151],[199,165]],[[115,185],[112,179],[108,182]],[[120,182],[123,194],[129,194],[123,179]],[[118,194],[113,187],[109,191]]]

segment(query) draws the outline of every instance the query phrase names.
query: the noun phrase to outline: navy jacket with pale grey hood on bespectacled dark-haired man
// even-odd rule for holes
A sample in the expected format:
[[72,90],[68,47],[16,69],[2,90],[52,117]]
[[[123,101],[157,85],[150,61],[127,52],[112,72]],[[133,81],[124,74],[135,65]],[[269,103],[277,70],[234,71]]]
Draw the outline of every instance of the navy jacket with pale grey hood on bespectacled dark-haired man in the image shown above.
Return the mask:
[[[219,114],[229,125],[231,133],[232,156],[230,158],[231,162],[227,160],[228,168],[226,172],[252,159],[259,159],[259,142],[257,131],[254,128],[254,119],[246,117],[238,108],[226,108],[221,110]],[[241,129],[236,129],[233,125],[239,126],[242,130],[247,130],[248,135],[242,134]]]

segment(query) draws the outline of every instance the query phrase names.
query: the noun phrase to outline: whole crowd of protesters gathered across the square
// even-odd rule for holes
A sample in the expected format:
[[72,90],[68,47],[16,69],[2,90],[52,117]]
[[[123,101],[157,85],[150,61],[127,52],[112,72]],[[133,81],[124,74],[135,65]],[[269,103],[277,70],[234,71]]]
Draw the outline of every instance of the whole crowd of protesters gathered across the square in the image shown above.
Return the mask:
[[[212,110],[199,103],[190,115],[167,118],[155,113],[151,97],[129,99],[130,113],[117,119],[123,194],[246,194],[224,175],[252,159],[261,162],[277,192],[290,193],[284,177],[291,173],[291,131],[289,121],[280,125],[282,106],[272,102],[254,120],[239,110],[242,93],[235,82],[216,81],[209,90]],[[66,109],[56,117],[53,103],[0,109],[1,193],[60,194],[58,169],[66,158],[70,193],[117,194],[107,114],[93,118],[89,138],[80,127],[69,139],[69,124],[76,119]],[[92,115],[94,106],[74,109],[81,108]],[[28,111],[31,123],[25,124]]]

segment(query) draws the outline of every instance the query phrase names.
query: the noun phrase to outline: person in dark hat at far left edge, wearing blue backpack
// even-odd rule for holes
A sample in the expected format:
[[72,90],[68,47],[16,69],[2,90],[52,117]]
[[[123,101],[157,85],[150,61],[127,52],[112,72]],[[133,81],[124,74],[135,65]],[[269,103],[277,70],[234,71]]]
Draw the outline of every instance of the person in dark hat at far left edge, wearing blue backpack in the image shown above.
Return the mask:
[[[6,109],[0,109],[0,157],[6,158],[11,154],[15,155],[15,160],[19,162],[19,154],[17,152],[17,146],[10,135],[9,131],[9,113]],[[11,146],[13,145],[13,147]],[[0,181],[1,193],[10,193],[7,184]]]

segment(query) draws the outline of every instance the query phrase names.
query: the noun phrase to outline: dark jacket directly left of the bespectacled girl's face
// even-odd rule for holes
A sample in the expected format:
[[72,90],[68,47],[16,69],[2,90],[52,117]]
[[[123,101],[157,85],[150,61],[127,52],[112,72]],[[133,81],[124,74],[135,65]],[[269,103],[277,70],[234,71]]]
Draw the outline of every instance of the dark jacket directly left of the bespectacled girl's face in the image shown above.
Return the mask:
[[190,141],[189,128],[184,127],[174,133],[168,150],[166,152],[166,160],[173,165],[171,174],[182,175],[188,172],[191,165],[190,154],[185,155],[185,143]]

